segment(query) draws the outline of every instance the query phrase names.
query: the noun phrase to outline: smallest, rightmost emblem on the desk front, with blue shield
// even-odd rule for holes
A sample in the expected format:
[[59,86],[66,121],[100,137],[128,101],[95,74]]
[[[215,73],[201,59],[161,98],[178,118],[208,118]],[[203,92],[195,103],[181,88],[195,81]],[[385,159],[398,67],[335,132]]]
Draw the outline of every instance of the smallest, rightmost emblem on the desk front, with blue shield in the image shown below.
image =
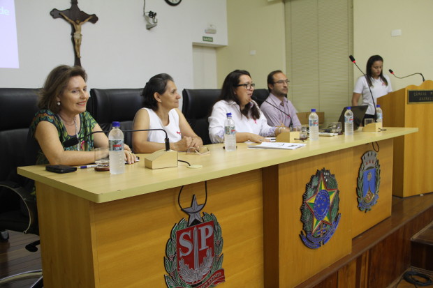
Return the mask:
[[367,151],[362,155],[362,163],[358,176],[358,208],[360,211],[372,210],[379,199],[379,185],[381,184],[381,165],[374,151]]

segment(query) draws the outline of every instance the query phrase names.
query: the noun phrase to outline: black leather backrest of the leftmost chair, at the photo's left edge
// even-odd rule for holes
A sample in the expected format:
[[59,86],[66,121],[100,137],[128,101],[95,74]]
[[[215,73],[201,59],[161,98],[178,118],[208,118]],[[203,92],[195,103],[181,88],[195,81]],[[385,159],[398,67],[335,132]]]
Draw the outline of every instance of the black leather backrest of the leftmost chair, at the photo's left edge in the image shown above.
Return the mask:
[[[20,197],[8,187],[29,188],[31,181],[17,174],[17,167],[27,162],[27,134],[34,114],[38,111],[38,89],[0,88],[0,230],[29,232],[29,217],[22,214]],[[27,212],[27,211],[26,211]],[[28,211],[30,213],[30,211]],[[4,216],[4,217],[3,217]],[[13,221],[9,221],[13,218]]]

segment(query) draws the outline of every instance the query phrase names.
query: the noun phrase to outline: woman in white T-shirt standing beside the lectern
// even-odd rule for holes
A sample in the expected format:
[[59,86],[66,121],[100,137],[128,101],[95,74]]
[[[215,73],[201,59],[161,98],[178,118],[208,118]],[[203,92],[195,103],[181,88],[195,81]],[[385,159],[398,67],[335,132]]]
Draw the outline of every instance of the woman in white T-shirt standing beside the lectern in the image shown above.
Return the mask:
[[383,58],[381,56],[373,55],[368,59],[365,73],[367,73],[367,77],[359,77],[353,89],[352,106],[357,106],[362,96],[361,105],[368,105],[364,119],[374,119],[374,112],[376,111],[374,105],[377,104],[377,98],[392,92],[392,87],[388,75],[383,75]]

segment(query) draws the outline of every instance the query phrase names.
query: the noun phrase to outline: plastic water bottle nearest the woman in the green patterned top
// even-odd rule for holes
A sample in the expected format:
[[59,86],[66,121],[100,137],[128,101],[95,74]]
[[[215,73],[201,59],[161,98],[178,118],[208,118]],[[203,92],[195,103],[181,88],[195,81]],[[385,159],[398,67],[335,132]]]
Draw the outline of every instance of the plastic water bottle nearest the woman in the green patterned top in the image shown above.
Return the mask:
[[120,123],[114,121],[110,134],[108,134],[111,174],[125,172],[124,133],[119,127]]

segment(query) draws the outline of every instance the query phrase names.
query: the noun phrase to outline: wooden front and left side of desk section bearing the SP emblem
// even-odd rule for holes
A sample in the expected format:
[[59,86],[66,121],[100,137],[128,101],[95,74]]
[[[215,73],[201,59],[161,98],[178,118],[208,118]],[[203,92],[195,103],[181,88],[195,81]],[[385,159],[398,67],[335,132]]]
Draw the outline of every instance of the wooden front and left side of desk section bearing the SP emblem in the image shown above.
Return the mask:
[[[261,176],[256,169],[208,181],[203,211],[216,215],[221,226],[223,268],[231,287],[263,287]],[[50,271],[44,287],[165,287],[166,243],[173,226],[188,219],[177,204],[179,188],[96,204],[44,186],[38,186],[38,201],[44,203],[41,251],[52,253],[43,257],[43,269]],[[184,208],[191,206],[193,194],[198,204],[205,202],[203,182],[184,188]],[[74,211],[61,211],[58,204]],[[47,227],[49,219],[56,220]]]

